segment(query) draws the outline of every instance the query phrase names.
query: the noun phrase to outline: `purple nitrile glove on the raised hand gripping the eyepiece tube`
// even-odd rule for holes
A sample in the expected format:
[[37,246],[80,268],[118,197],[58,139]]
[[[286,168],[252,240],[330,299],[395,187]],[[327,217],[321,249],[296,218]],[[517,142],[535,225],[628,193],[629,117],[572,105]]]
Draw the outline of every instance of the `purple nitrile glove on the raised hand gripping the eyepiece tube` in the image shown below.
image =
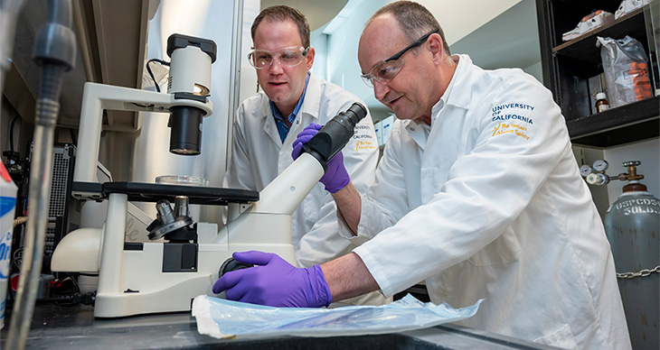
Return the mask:
[[[293,142],[293,152],[291,152],[294,160],[297,160],[300,153],[303,152],[303,145],[308,143],[319,130],[321,130],[321,125],[312,123],[297,135],[297,139]],[[348,185],[350,180],[348,171],[344,167],[344,154],[339,152],[335,155],[335,158],[327,162],[327,170],[325,170],[325,174],[319,181],[325,185],[326,191],[335,193],[340,189],[344,189],[344,186]]]

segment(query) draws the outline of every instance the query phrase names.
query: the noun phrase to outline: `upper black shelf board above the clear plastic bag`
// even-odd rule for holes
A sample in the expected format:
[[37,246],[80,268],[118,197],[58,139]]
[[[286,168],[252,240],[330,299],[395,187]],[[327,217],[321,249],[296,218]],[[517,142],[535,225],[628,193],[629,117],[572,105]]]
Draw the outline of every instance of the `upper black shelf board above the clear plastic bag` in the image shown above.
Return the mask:
[[580,37],[566,41],[552,48],[552,53],[570,57],[577,60],[586,60],[600,64],[600,50],[596,48],[596,37],[614,37],[623,39],[626,35],[637,41],[646,41],[646,27],[644,24],[644,11],[648,5],[638,8],[630,14],[618,18],[614,22],[605,24],[593,31],[585,32]]

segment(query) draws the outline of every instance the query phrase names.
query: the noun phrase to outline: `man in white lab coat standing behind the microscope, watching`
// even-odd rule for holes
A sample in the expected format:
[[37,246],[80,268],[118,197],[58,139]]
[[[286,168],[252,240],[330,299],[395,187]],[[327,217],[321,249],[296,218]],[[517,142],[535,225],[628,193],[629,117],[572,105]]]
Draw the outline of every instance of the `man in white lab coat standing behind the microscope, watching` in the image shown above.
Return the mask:
[[[364,103],[309,72],[315,52],[309,46],[309,24],[297,10],[288,6],[265,9],[252,26],[252,39],[255,50],[250,51],[250,64],[257,69],[263,91],[247,98],[238,109],[223,186],[261,190],[293,162],[291,144],[303,128],[312,123],[325,124],[354,102]],[[301,50],[293,54],[300,55],[302,61],[288,62],[292,55],[289,51],[297,48]],[[269,61],[256,63],[264,58]],[[281,130],[284,124],[286,132]],[[371,115],[356,126],[354,138],[343,154],[355,186],[366,190],[373,183],[378,161]],[[350,253],[356,246],[338,234],[335,211],[332,196],[320,183],[297,207],[291,216],[291,243],[299,265],[325,263]],[[386,301],[377,292],[350,302],[379,305]]]

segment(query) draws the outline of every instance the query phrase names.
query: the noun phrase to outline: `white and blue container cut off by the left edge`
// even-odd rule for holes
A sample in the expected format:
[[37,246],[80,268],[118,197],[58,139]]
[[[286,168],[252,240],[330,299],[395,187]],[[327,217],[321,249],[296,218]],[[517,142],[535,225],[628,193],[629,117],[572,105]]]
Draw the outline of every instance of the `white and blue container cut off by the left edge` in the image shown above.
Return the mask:
[[16,185],[0,161],[0,329],[5,327],[5,299],[12,255]]

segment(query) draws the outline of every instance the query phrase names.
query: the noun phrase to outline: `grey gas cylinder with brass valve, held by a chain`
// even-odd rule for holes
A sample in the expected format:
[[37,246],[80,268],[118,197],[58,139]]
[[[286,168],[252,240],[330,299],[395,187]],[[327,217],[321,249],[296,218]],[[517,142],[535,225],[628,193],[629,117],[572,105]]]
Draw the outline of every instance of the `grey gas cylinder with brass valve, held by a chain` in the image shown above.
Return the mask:
[[659,349],[660,339],[660,199],[639,182],[639,161],[623,163],[628,180],[623,193],[605,216],[605,231],[612,246],[618,287],[626,311],[634,349]]

